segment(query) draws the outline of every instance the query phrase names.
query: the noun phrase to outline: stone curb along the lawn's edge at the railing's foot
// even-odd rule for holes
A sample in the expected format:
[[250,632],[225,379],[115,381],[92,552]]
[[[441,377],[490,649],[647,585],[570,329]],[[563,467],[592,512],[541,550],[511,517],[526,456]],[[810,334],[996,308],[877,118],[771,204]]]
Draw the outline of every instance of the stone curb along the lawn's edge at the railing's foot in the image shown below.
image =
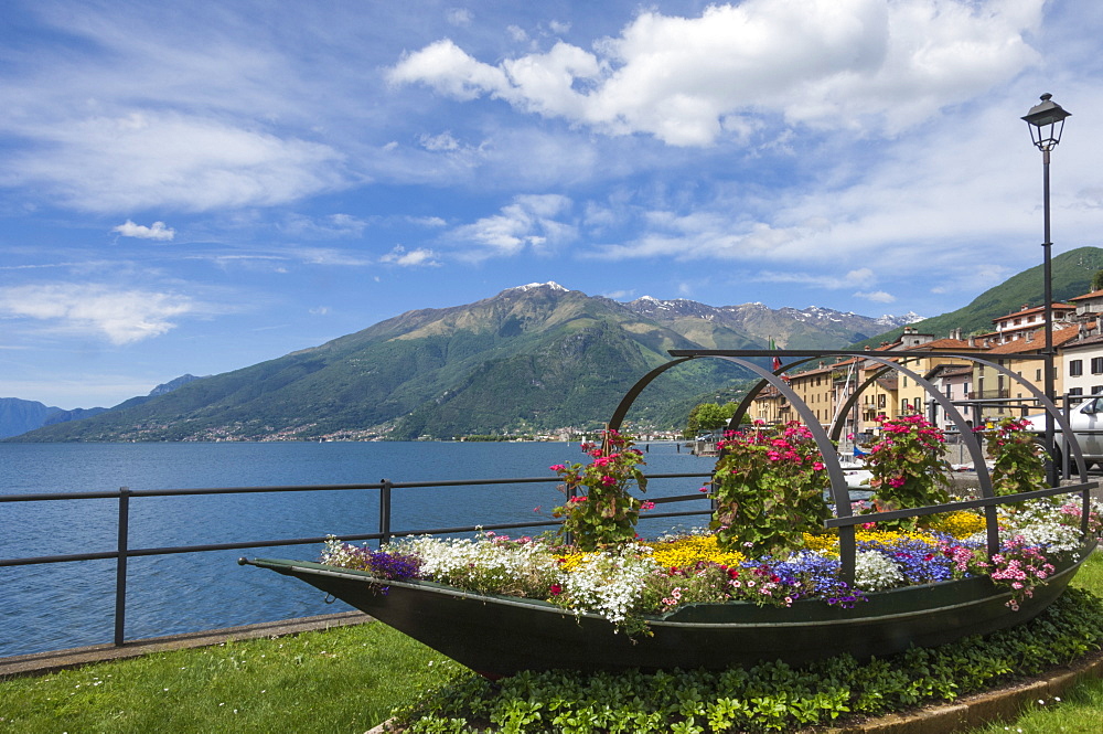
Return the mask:
[[140,640],[130,640],[121,647],[114,645],[93,645],[89,647],[71,648],[67,650],[52,650],[50,652],[36,652],[33,655],[13,656],[0,658],[0,679],[15,676],[36,676],[50,673],[67,668],[79,668],[93,662],[109,662],[113,660],[126,660],[138,658],[150,652],[164,652],[167,650],[183,650],[186,648],[206,647],[219,642],[232,640],[254,640],[264,637],[282,637],[285,635],[298,635],[314,630],[331,629],[333,627],[347,627],[350,625],[363,625],[373,621],[363,611],[343,611],[339,614],[320,615],[317,617],[297,617],[295,619],[280,619],[279,621],[265,621],[256,625],[244,625],[240,627],[225,627],[223,629],[207,629],[201,632],[188,635],[172,635],[169,637],[150,637]]

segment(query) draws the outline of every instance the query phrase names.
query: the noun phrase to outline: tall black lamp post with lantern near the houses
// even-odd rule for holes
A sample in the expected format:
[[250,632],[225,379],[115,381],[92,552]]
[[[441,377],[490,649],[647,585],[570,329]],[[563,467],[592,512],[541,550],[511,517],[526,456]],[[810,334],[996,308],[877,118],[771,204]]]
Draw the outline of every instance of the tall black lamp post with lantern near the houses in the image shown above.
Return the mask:
[[[1042,263],[1043,273],[1042,280],[1045,281],[1045,294],[1046,299],[1046,352],[1045,352],[1045,370],[1046,370],[1046,397],[1053,402],[1056,400],[1056,393],[1053,390],[1053,383],[1056,381],[1053,374],[1053,267],[1051,253],[1053,243],[1049,238],[1049,151],[1057,147],[1061,142],[1061,132],[1064,131],[1064,119],[1071,116],[1071,113],[1067,113],[1061,105],[1052,100],[1053,95],[1048,92],[1041,96],[1041,102],[1030,108],[1030,111],[1026,114],[1022,119],[1026,121],[1027,127],[1030,129],[1030,140],[1034,145],[1041,151],[1041,170],[1042,170],[1042,219],[1043,219],[1043,241],[1042,246]],[[1053,450],[1053,416],[1046,412],[1046,447],[1050,450],[1050,461],[1049,461],[1049,483],[1050,486],[1057,486],[1058,483],[1058,472],[1057,464],[1052,460]]]

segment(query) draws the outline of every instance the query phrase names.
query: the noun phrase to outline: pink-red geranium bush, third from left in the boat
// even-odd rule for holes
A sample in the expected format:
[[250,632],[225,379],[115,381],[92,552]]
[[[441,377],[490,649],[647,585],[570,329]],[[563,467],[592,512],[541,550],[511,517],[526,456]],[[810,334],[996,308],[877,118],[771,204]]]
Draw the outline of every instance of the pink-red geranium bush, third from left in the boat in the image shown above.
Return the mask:
[[[881,421],[881,436],[869,450],[874,509],[878,512],[950,501],[950,464],[942,432],[921,415]],[[888,529],[913,530],[920,518],[879,521]]]

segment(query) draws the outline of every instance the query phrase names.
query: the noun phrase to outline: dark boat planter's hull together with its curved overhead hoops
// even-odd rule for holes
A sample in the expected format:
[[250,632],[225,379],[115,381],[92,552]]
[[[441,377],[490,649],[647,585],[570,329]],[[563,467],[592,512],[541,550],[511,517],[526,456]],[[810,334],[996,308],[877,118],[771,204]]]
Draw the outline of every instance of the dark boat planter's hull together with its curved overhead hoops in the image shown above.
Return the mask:
[[[643,389],[666,370],[687,360],[718,358],[758,375],[761,382],[740,403],[728,428],[739,427],[750,401],[765,385],[771,385],[792,406],[818,446],[831,480],[834,518],[826,529],[839,536],[842,578],[853,579],[857,547],[855,525],[925,517],[957,510],[979,510],[985,518],[986,550],[992,557],[1002,544],[996,507],[1059,494],[1081,494],[1080,531],[1091,539],[1063,562],[1054,564],[1046,583],[1034,587],[1034,595],[1011,608],[1010,591],[987,576],[922,586],[904,586],[867,593],[867,600],[853,608],[828,605],[823,599],[799,599],[791,607],[758,606],[747,602],[685,605],[668,614],[644,616],[650,635],[629,637],[618,632],[597,614],[574,614],[539,599],[481,595],[424,581],[383,581],[361,571],[302,561],[242,560],[264,568],[295,576],[375,617],[379,621],[420,640],[425,645],[486,676],[510,676],[522,670],[662,670],[714,669],[750,666],[783,660],[802,664],[837,655],[858,659],[901,652],[911,646],[934,647],[970,635],[987,635],[1020,625],[1040,614],[1068,587],[1083,559],[1095,547],[1089,533],[1091,491],[1099,487],[1089,481],[1082,451],[1061,411],[1045,393],[1008,368],[975,354],[954,354],[964,362],[979,363],[1021,385],[1053,417],[1068,450],[1075,459],[1080,483],[1056,486],[997,497],[985,465],[985,454],[973,434],[972,425],[939,387],[921,374],[885,354],[866,351],[832,352],[836,357],[860,359],[880,365],[880,371],[858,386],[831,425],[831,435],[821,425],[818,414],[788,384],[784,372],[824,353],[770,350],[673,350],[676,359],[660,365],[639,380],[621,400],[610,429],[619,429],[629,406]],[[924,357],[909,352],[910,358]],[[939,352],[931,355],[951,357]],[[772,358],[799,358],[774,370],[759,362]],[[759,361],[754,361],[758,359]],[[978,490],[973,499],[944,504],[863,513],[855,517],[850,506],[850,482],[839,462],[836,440],[844,427],[842,419],[863,390],[882,372],[896,373],[921,386],[956,426],[976,471]]]

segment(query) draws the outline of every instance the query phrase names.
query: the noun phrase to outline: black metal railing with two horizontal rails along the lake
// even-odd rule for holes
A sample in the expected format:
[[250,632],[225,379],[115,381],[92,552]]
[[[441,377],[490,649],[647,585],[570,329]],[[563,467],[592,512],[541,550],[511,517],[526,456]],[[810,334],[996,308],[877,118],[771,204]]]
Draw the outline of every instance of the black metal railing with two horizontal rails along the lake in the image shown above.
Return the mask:
[[[653,479],[711,479],[711,474],[705,472],[675,472],[647,475],[649,480]],[[7,502],[55,502],[74,500],[118,500],[118,540],[115,550],[95,551],[89,553],[67,553],[61,555],[38,555],[20,559],[0,559],[0,567],[6,566],[30,566],[47,563],[75,563],[82,561],[100,561],[115,559],[115,632],[114,643],[119,647],[126,643],[126,608],[127,608],[127,561],[129,559],[172,555],[176,553],[207,553],[212,551],[232,551],[253,547],[272,547],[283,545],[315,545],[324,543],[329,538],[335,536],[342,541],[378,541],[381,544],[389,542],[394,538],[408,535],[448,535],[454,533],[475,532],[478,530],[523,530],[528,528],[547,528],[558,525],[560,520],[540,520],[532,522],[506,522],[496,524],[463,525],[456,528],[425,528],[415,530],[394,530],[390,523],[392,498],[394,490],[407,489],[440,489],[446,487],[485,487],[492,485],[524,485],[524,483],[561,483],[559,477],[522,477],[513,479],[449,479],[437,481],[405,481],[397,482],[383,479],[372,483],[355,485],[286,485],[270,487],[216,487],[206,489],[130,489],[120,487],[118,491],[86,491],[86,492],[40,492],[33,494],[0,494],[0,504]],[[318,491],[351,491],[351,490],[378,490],[379,492],[379,521],[378,530],[374,533],[321,535],[314,538],[281,538],[264,541],[240,541],[234,543],[208,543],[193,545],[172,545],[165,547],[130,547],[130,501],[135,498],[146,497],[194,497],[211,494],[249,494],[249,493],[279,493],[279,492],[318,492]],[[690,500],[708,500],[707,494],[695,492],[693,494],[677,494],[671,497],[656,497],[651,501],[655,504],[667,504],[673,502],[686,502]],[[662,518],[681,518],[692,515],[707,515],[711,513],[711,507],[705,510],[684,510],[671,512],[649,512],[647,520]]]

